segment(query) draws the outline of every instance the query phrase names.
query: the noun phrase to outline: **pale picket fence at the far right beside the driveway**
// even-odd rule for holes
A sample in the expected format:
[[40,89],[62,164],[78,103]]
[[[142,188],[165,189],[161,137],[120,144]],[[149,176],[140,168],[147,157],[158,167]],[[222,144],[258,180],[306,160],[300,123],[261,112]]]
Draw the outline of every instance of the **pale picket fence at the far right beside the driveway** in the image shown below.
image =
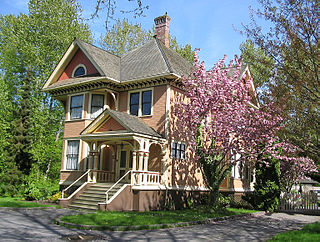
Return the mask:
[[279,211],[320,215],[317,194],[314,192],[284,193],[280,198]]

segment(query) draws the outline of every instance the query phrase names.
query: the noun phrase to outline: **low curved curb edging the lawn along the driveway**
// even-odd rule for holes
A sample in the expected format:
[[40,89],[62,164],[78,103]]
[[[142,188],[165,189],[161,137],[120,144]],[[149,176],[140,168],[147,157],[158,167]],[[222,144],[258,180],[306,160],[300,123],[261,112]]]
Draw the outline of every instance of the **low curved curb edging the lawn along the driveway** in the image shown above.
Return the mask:
[[178,228],[178,227],[185,227],[185,226],[192,226],[192,225],[210,224],[210,223],[224,221],[224,220],[230,220],[230,219],[254,217],[257,215],[255,215],[255,213],[249,213],[249,214],[224,216],[224,217],[218,217],[218,218],[209,218],[206,220],[199,220],[199,221],[189,221],[189,222],[180,222],[180,223],[172,223],[172,224],[134,225],[134,226],[108,226],[108,225],[98,226],[98,225],[74,224],[74,223],[62,221],[60,218],[63,216],[60,216],[60,217],[54,219],[53,221],[54,221],[54,223],[61,225],[61,226],[64,226],[64,227],[83,229],[83,230],[130,231],[130,230]]

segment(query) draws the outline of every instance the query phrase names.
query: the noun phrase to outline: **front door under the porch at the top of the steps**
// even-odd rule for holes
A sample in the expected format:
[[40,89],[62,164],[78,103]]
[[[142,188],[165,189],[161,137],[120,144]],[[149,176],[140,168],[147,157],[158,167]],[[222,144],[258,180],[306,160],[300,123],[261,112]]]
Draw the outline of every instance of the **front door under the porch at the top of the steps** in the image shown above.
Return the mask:
[[[122,149],[119,149],[119,162],[117,162],[118,179],[132,169],[132,151],[129,148],[124,146]],[[124,181],[130,181],[130,174],[124,178]]]

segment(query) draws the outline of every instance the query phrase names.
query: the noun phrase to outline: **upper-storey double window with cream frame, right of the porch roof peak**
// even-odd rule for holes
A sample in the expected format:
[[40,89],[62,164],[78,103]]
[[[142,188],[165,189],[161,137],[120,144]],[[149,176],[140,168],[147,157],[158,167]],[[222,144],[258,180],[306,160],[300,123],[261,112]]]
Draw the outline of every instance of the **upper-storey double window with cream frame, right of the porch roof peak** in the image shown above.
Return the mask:
[[129,112],[132,115],[151,115],[152,90],[130,93]]

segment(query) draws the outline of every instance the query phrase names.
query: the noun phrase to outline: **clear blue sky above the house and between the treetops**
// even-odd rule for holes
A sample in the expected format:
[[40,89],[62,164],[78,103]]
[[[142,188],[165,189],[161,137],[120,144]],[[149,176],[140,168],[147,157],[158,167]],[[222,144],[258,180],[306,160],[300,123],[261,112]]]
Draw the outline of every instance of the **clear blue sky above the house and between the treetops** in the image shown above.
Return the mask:
[[[88,18],[94,11],[96,0],[78,0],[83,15]],[[127,18],[132,23],[140,23],[146,30],[154,25],[154,18],[167,14],[171,18],[170,34],[176,36],[181,45],[190,44],[200,48],[200,59],[207,68],[212,67],[224,55],[232,59],[240,55],[239,46],[246,37],[239,33],[241,24],[249,24],[249,6],[258,7],[256,0],[142,0],[149,9],[145,17],[133,18],[132,14],[121,14],[120,10],[135,7],[134,2],[118,0],[116,18]],[[28,0],[0,0],[0,14],[28,13]],[[102,13],[103,14],[103,13]],[[112,25],[113,22],[110,22]],[[105,34],[104,18],[89,21],[95,39]],[[98,45],[98,42],[96,42]]]

